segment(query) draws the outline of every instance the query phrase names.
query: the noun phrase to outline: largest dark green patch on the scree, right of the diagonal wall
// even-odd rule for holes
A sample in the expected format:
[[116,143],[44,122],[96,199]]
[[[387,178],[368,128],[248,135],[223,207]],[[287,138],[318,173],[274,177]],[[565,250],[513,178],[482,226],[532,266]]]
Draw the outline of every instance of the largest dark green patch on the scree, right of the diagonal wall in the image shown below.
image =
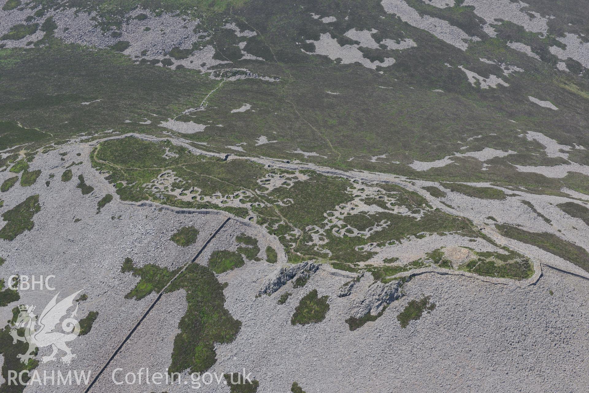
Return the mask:
[[184,289],[188,309],[180,319],[169,372],[204,372],[216,362],[215,344],[233,341],[241,322],[224,307],[223,285],[207,267],[193,263],[168,286]]

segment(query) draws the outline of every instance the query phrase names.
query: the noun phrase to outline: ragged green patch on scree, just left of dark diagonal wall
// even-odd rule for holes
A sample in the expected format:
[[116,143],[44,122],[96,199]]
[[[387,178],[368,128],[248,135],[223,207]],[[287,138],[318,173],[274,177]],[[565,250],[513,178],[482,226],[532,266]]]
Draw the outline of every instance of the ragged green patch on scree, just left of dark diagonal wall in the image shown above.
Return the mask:
[[178,274],[178,271],[179,269],[170,271],[152,263],[143,267],[135,267],[133,259],[125,258],[121,273],[131,272],[134,276],[141,278],[135,288],[125,295],[125,299],[141,300],[152,292],[160,293],[168,285],[168,282]]

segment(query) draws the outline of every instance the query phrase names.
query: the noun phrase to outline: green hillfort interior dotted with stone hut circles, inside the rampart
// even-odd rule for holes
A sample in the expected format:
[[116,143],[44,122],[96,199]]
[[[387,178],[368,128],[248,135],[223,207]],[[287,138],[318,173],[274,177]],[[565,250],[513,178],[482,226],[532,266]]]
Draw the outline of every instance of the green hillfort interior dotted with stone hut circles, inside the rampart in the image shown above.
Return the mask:
[[[167,152],[174,153],[174,156],[170,157]],[[155,143],[135,137],[100,143],[91,154],[91,160],[96,170],[109,173],[106,179],[114,184],[121,200],[151,200],[177,207],[218,209],[240,217],[255,214],[256,223],[278,237],[289,262],[293,263],[313,258],[346,263],[363,262],[375,254],[370,251],[370,247],[366,247],[369,243],[386,246],[393,241],[431,233],[478,236],[469,220],[433,209],[418,193],[382,183],[378,184],[382,198],[370,198],[365,202],[377,204],[385,212],[343,217],[344,223],[337,223],[343,237],[335,235],[332,229],[326,230],[326,243],[316,249],[309,233],[315,230],[312,226],[325,226],[326,212],[337,210],[341,204],[353,200],[355,194],[362,191],[361,185],[308,170],[302,172],[307,179],[292,183],[285,181],[283,185],[287,186],[268,190],[263,186],[265,177],[280,176],[287,179],[292,172],[268,169],[247,160],[223,161],[214,157],[195,156],[168,141]],[[167,171],[173,171],[177,179],[164,190],[154,189],[155,181]],[[172,194],[172,191],[178,190],[183,196],[193,194],[193,197],[190,200],[179,200]],[[216,197],[220,203],[206,202],[205,196]],[[224,198],[239,198],[241,203],[249,207],[226,207]],[[414,214],[421,214],[421,217],[395,213],[397,206],[406,207]],[[381,222],[390,224],[369,236],[349,236],[346,232],[347,227],[366,230]],[[241,235],[236,240],[241,243],[238,253],[250,260],[260,260],[256,240]],[[329,250],[331,255],[322,249]],[[270,263],[277,260],[274,252],[267,255]]]

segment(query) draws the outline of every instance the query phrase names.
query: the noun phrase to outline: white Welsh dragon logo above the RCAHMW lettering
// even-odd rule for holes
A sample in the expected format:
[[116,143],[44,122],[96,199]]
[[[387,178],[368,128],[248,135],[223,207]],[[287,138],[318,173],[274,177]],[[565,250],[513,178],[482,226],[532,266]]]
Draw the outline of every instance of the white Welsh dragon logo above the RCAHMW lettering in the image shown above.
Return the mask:
[[[67,315],[68,309],[74,306],[74,298],[78,293],[82,292],[82,289],[78,292],[73,293],[67,298],[57,302],[57,296],[59,293],[51,299],[51,302],[41,313],[41,316],[37,320],[37,316],[33,313],[35,306],[20,306],[21,313],[16,319],[16,329],[25,328],[25,335],[19,336],[16,329],[12,329],[11,335],[16,341],[28,342],[29,349],[24,354],[19,354],[17,357],[21,359],[21,362],[27,363],[29,359],[35,357],[35,349],[45,348],[46,346],[52,346],[53,352],[49,356],[43,356],[41,361],[43,363],[52,360],[57,360],[55,355],[61,350],[65,352],[65,355],[61,357],[61,361],[65,364],[70,364],[75,355],[72,354],[71,349],[67,343],[74,340],[80,333],[80,323],[74,318],[78,311],[78,306],[74,312],[71,313],[69,318],[65,318],[64,321],[61,319]],[[61,329],[65,332],[55,331],[61,321]]]

